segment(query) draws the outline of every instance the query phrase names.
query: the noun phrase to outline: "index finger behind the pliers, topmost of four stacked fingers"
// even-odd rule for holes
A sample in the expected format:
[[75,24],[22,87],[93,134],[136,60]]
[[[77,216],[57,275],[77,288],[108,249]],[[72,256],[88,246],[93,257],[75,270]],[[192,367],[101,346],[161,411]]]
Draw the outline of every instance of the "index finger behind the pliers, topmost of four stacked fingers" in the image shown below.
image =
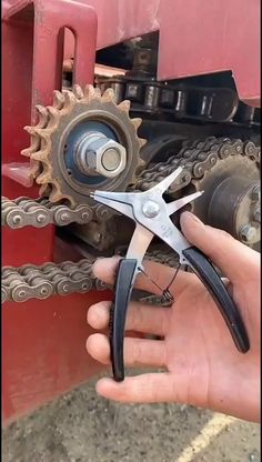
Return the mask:
[[[93,273],[97,278],[107,282],[108,284],[113,284],[115,279],[115,273],[118,271],[120,258],[112,257],[108,259],[99,259],[93,264]],[[144,271],[150,278],[158,283],[159,287],[165,289],[167,285],[172,280],[175,269],[165,267],[160,263],[154,263],[152,261],[144,262]],[[181,293],[187,285],[194,279],[193,274],[185,273],[184,271],[179,271],[172,288],[170,289],[171,293],[177,295]],[[144,274],[139,274],[135,279],[134,287],[137,289],[142,289],[151,293],[160,294],[161,291],[158,289],[152,281]]]

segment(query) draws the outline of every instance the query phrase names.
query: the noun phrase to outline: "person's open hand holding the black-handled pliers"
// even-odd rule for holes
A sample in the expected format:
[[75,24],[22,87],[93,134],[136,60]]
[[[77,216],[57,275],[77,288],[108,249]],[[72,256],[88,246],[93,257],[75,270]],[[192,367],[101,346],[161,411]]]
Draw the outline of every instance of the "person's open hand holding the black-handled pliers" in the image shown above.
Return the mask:
[[[228,288],[241,312],[250,338],[250,351],[240,353],[213,299],[192,273],[180,271],[171,287],[170,309],[130,303],[125,330],[155,334],[162,340],[125,337],[128,366],[164,368],[167,372],[127,376],[123,382],[103,378],[97,392],[121,402],[179,402],[231,414],[260,419],[260,254],[224,231],[204,225],[189,212],[181,217],[187,239],[202,250],[230,280]],[[94,274],[113,283],[118,258],[98,260]],[[174,270],[145,262],[145,271],[160,287],[167,287]],[[158,293],[144,275],[135,287]],[[109,323],[111,302],[99,302],[88,312],[89,324],[103,330]],[[88,352],[110,363],[108,337],[94,333]]]

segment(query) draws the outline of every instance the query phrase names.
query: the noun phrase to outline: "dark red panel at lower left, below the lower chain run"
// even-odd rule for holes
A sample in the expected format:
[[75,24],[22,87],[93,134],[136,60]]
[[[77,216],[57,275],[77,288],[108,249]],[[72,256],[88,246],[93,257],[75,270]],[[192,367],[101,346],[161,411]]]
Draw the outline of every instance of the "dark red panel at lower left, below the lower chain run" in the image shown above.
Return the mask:
[[47,403],[101,370],[88,356],[88,307],[99,292],[2,308],[3,420]]

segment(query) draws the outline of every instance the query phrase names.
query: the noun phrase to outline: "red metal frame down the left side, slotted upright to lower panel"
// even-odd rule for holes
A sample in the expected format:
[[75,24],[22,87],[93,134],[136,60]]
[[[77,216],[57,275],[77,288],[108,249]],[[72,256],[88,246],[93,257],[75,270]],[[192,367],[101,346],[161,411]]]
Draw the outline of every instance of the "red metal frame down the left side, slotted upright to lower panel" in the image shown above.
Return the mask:
[[[3,4],[3,195],[37,197],[12,179],[26,178],[21,149],[29,144],[22,128],[34,121],[34,106],[50,104],[60,88],[61,28],[75,37],[74,78],[93,81],[97,16],[71,0],[19,1]],[[26,159],[24,159],[26,161]],[[19,164],[20,163],[20,164]],[[13,167],[17,165],[17,169]],[[3,229],[3,264],[40,264],[53,260],[54,230]],[[63,255],[64,257],[64,255]],[[74,255],[74,259],[77,257]],[[99,295],[7,303],[2,309],[3,419],[8,422],[90,378],[98,364],[85,353],[88,305]]]

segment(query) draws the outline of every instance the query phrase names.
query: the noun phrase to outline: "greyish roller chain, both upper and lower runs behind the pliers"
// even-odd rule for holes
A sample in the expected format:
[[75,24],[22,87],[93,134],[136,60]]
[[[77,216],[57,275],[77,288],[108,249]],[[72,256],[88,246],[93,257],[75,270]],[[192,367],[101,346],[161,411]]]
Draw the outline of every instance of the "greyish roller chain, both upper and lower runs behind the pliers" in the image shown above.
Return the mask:
[[[228,138],[209,138],[204,141],[184,142],[181,151],[165,162],[153,164],[138,178],[135,189],[147,190],[163,180],[174,169],[184,167],[180,183],[171,184],[173,193],[188,185],[192,180],[201,179],[220,160],[229,155],[245,155],[260,163],[260,148],[251,141],[230,140]],[[70,209],[66,204],[52,204],[47,199],[37,200],[2,198],[2,225],[19,229],[26,225],[42,228],[48,224],[63,227],[72,222],[89,223],[91,220],[107,221],[111,211],[101,205],[77,205]],[[122,248],[123,250],[123,248]],[[121,248],[115,250],[121,253]],[[145,254],[153,260],[177,268],[179,260],[168,250],[155,249]],[[29,299],[47,299],[51,295],[66,295],[73,292],[104,290],[108,285],[92,275],[92,261],[78,263],[44,263],[40,267],[26,264],[20,268],[2,268],[2,302],[24,302]]]

